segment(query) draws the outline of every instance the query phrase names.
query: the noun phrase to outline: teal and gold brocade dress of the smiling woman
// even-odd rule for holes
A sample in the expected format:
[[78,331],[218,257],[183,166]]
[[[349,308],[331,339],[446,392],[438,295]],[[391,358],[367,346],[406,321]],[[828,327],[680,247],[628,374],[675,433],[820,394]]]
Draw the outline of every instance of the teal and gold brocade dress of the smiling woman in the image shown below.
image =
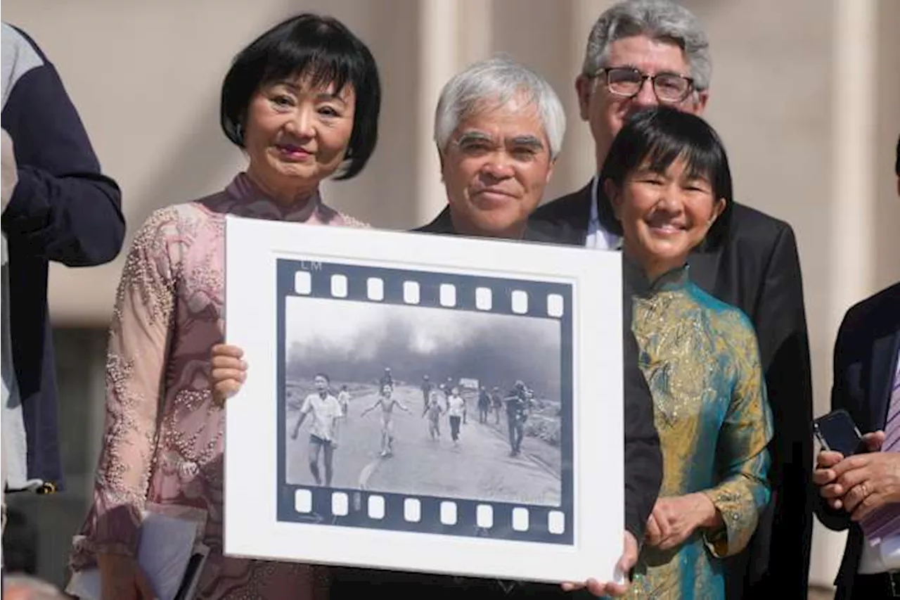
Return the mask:
[[660,496],[703,492],[725,521],[672,550],[644,546],[628,597],[724,599],[721,559],[743,550],[770,499],[772,418],[752,323],[687,267],[651,284],[626,265],[626,286],[662,444]]

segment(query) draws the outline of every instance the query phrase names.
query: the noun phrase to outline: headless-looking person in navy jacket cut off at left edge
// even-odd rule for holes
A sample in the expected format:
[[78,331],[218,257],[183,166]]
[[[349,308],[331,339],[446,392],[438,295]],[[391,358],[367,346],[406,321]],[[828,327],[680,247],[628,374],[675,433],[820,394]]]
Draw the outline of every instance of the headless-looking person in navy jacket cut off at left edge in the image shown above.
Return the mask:
[[[0,398],[7,490],[62,486],[48,265],[121,250],[121,192],[100,164],[56,68],[0,23]],[[12,357],[12,365],[9,358]],[[5,360],[4,360],[5,359]]]

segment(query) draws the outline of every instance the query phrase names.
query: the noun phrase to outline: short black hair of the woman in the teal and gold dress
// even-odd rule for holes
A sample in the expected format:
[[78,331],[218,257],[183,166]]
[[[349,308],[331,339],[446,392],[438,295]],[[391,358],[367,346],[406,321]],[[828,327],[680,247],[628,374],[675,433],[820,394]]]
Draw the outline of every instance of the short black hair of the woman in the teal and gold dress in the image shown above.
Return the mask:
[[600,181],[610,180],[621,189],[636,168],[647,167],[662,174],[678,159],[685,160],[691,176],[709,181],[714,200],[725,198],[725,211],[707,233],[708,241],[717,241],[732,212],[731,169],[725,145],[700,117],[669,106],[635,113],[613,139],[600,169]]

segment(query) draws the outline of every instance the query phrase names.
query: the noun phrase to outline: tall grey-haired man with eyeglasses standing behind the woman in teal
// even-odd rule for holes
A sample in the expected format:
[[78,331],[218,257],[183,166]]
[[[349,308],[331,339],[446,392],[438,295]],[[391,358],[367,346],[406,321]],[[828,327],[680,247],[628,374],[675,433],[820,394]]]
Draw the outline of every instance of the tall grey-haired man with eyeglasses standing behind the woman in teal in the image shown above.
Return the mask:
[[[601,14],[575,81],[581,119],[590,124],[597,169],[636,111],[672,105],[702,114],[711,73],[707,36],[697,18],[670,0],[620,2]],[[814,495],[812,382],[803,287],[794,232],[734,203],[726,226],[696,250],[691,278],[751,317],[760,341],[775,417],[772,503],[747,550],[727,565],[730,600],[806,598]],[[541,206],[532,217],[554,239],[616,250],[621,228],[594,177],[579,191]]]

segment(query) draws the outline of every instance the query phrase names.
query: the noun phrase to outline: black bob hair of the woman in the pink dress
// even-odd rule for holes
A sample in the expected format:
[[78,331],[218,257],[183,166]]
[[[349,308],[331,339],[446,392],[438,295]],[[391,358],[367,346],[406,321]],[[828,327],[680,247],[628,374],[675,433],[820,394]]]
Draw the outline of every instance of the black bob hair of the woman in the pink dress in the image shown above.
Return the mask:
[[378,141],[381,83],[372,52],[332,17],[299,14],[275,25],[240,51],[222,83],[222,131],[244,148],[244,119],[253,95],[260,87],[299,76],[310,77],[311,86],[333,83],[336,93],[344,86],[353,86],[356,111],[347,163],[335,178],[356,176]]

